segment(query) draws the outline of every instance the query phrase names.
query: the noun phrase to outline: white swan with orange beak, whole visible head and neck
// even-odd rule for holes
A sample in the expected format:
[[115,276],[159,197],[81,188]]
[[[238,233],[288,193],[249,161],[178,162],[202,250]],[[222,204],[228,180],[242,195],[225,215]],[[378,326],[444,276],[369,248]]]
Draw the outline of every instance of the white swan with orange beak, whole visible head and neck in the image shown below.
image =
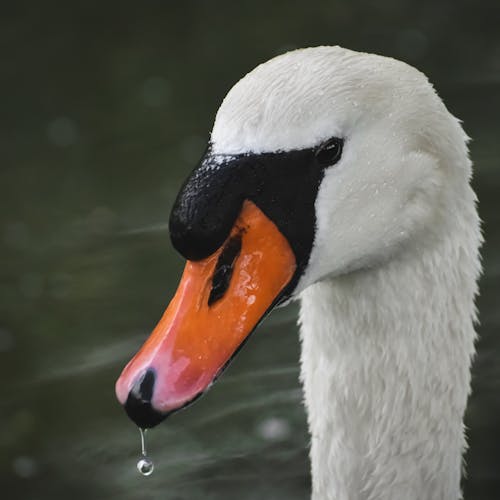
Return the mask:
[[307,48],[243,77],[172,209],[187,263],[117,381],[128,415],[152,427],[190,404],[298,299],[312,498],[462,498],[481,271],[467,141],[391,58]]

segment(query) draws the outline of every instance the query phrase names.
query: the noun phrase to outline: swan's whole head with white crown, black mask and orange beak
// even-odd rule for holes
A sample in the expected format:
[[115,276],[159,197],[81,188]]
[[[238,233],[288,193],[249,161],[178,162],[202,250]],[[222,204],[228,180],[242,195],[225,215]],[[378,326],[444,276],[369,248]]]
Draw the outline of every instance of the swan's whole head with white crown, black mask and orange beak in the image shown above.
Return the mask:
[[117,382],[129,416],[156,425],[211,385],[274,306],[438,234],[466,157],[458,121],[402,62],[317,47],[247,74],[174,204],[171,239],[188,262]]

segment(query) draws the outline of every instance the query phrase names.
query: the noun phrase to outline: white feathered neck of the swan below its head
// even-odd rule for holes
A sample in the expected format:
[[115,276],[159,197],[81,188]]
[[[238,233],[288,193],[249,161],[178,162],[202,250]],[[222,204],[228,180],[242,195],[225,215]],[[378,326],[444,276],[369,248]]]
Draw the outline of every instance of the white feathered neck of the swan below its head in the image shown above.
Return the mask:
[[475,255],[447,239],[303,292],[315,500],[461,498]]

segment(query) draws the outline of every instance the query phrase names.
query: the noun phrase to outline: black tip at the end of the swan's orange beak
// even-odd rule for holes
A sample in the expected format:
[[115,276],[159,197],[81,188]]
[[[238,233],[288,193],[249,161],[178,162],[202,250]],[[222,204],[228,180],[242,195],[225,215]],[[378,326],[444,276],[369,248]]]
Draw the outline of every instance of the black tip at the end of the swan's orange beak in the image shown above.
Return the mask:
[[125,402],[125,411],[127,415],[141,429],[154,427],[167,416],[155,410],[151,405],[155,380],[155,371],[152,368],[148,369],[137,379]]

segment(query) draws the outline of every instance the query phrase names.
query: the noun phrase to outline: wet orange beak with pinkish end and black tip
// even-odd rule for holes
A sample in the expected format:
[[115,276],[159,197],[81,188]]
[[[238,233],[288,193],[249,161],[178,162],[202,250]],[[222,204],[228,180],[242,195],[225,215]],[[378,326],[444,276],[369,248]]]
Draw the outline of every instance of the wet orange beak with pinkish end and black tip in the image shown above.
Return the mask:
[[225,243],[187,261],[160,322],[116,383],[140,427],[152,427],[208,389],[292,280],[286,238],[245,201]]

